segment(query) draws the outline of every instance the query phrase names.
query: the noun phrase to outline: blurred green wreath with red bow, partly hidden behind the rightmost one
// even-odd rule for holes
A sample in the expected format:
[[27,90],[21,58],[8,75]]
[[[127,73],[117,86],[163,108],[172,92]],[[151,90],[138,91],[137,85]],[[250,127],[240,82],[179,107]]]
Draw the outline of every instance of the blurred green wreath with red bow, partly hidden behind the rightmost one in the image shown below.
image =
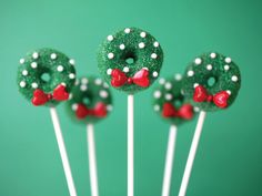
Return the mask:
[[175,74],[169,79],[160,79],[153,91],[153,109],[171,124],[180,125],[194,116],[194,109],[181,92],[182,75]]

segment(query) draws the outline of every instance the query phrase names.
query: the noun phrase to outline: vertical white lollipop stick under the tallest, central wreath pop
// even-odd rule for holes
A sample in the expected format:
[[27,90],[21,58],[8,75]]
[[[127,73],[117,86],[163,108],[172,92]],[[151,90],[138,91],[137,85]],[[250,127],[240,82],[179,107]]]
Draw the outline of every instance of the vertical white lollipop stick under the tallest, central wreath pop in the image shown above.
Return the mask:
[[133,196],[133,95],[128,95],[128,196]]

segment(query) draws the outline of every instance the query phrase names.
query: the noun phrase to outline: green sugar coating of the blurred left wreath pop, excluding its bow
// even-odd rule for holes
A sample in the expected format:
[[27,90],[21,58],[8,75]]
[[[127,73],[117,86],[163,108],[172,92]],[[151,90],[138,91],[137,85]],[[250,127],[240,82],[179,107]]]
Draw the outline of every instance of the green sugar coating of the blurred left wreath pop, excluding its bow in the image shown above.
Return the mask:
[[84,118],[79,118],[75,115],[78,104],[83,104],[87,109],[94,109],[98,103],[103,103],[107,106],[107,116],[112,111],[112,95],[109,85],[101,79],[95,76],[82,76],[77,79],[70,99],[67,102],[67,111],[73,122],[81,124],[93,124],[104,117],[95,117],[88,115]]

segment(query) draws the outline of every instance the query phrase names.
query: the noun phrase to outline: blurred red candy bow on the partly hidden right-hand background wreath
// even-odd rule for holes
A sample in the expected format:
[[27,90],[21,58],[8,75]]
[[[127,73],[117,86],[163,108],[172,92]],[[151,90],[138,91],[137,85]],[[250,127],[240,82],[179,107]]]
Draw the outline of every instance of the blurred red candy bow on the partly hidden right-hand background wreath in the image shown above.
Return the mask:
[[171,103],[164,103],[162,115],[164,117],[181,117],[184,120],[191,120],[193,117],[193,106],[190,104],[184,104],[179,110],[175,110]]

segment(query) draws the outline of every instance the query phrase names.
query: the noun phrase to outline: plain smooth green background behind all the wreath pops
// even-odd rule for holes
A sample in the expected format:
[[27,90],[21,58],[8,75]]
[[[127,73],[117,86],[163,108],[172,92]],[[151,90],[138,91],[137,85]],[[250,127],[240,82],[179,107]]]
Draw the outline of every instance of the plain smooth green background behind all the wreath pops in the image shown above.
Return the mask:
[[[19,59],[52,47],[75,59],[79,75],[98,74],[98,44],[117,29],[139,27],[161,43],[161,76],[183,72],[202,52],[230,55],[242,89],[228,111],[209,113],[188,196],[262,195],[262,1],[260,0],[0,0],[0,195],[67,196],[47,107],[34,107],[16,84]],[[152,89],[135,95],[135,196],[159,196],[169,124],[154,114]],[[127,95],[95,125],[101,196],[127,189]],[[58,107],[79,196],[90,195],[84,126]],[[177,195],[196,118],[179,128],[172,195]]]

